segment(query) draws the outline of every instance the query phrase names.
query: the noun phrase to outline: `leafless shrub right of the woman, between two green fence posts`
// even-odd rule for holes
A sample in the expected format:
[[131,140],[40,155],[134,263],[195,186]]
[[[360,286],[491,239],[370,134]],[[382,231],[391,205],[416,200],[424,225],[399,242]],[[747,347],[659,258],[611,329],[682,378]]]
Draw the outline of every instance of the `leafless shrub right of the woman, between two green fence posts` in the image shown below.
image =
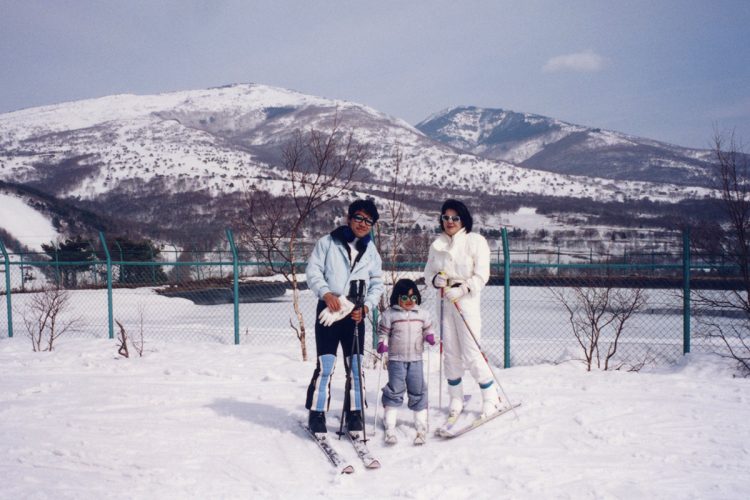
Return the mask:
[[[549,290],[568,312],[573,335],[583,351],[587,370],[591,371],[592,366],[604,370],[621,368],[622,365],[613,367],[610,362],[617,354],[625,323],[646,302],[643,290],[610,286]],[[604,345],[607,339],[609,345]]]

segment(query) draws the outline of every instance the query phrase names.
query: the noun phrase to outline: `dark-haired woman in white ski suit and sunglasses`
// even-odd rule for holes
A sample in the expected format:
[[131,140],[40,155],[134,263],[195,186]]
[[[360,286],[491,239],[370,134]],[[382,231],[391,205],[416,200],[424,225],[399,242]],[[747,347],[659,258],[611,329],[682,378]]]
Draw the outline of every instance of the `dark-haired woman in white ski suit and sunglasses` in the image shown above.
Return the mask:
[[482,414],[486,416],[496,411],[499,403],[492,371],[477,345],[482,330],[481,292],[490,278],[490,248],[482,235],[471,232],[471,213],[462,202],[446,200],[440,213],[443,232],[430,246],[424,277],[427,285],[437,289],[449,417],[455,418],[463,410],[462,377],[467,369],[479,384]]

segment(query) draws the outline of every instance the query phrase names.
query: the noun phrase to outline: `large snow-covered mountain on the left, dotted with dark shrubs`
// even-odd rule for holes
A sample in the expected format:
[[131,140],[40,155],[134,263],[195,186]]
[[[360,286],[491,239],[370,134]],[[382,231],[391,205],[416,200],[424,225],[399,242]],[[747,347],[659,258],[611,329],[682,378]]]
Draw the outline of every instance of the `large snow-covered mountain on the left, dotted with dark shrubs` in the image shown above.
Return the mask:
[[[133,226],[192,230],[193,235],[211,227],[220,233],[241,214],[242,193],[250,186],[272,193],[285,187],[281,154],[295,133],[330,130],[337,122],[369,147],[357,193],[382,193],[400,153],[413,201],[430,209],[446,195],[471,196],[481,201],[475,206],[488,210],[497,200],[529,197],[674,204],[712,196],[709,189],[685,182],[614,182],[618,176],[612,172],[565,175],[547,171],[546,163],[528,168],[550,151],[534,146],[540,137],[559,143],[575,135],[561,123],[529,122],[526,135],[516,132],[515,153],[506,156],[521,161],[519,166],[488,158],[489,142],[484,135],[472,136],[469,125],[463,142],[436,140],[445,141],[449,129],[434,126],[445,131],[435,135],[427,126],[435,120],[420,125],[428,137],[367,106],[257,84],[115,95],[0,115],[0,180]],[[583,129],[577,133],[606,136]],[[524,148],[525,155],[520,153]]]

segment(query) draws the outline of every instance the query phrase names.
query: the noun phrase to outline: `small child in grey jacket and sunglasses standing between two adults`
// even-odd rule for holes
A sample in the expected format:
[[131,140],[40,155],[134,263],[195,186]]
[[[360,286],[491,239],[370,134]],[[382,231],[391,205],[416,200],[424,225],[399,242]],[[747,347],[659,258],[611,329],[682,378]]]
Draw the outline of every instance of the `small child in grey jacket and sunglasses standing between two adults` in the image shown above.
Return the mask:
[[378,326],[378,352],[388,353],[388,384],[383,387],[385,440],[396,443],[396,414],[408,393],[408,407],[414,411],[417,429],[415,444],[423,444],[427,434],[427,387],[424,383],[422,353],[424,342],[435,345],[429,313],[420,309],[422,297],[409,279],[396,282],[390,307]]

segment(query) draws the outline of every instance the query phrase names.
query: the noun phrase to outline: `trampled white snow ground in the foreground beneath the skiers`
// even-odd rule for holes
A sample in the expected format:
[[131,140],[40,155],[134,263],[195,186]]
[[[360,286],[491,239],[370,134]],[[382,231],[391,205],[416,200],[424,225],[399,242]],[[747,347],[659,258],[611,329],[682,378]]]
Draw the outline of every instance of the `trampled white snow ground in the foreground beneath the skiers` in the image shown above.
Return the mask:
[[[142,358],[114,341],[60,339],[33,353],[0,339],[1,498],[723,498],[750,491],[750,380],[725,360],[689,355],[658,372],[582,364],[497,370],[517,415],[455,440],[399,443],[372,426],[380,470],[338,474],[298,421],[313,371],[297,348],[149,342]],[[438,363],[429,377],[430,425]],[[343,369],[333,380],[330,427]],[[443,384],[445,387],[445,384]],[[446,398],[443,398],[445,403]],[[478,398],[469,404],[477,411]],[[382,412],[382,408],[381,408]],[[382,414],[382,413],[381,413]],[[333,435],[332,435],[333,436]]]

